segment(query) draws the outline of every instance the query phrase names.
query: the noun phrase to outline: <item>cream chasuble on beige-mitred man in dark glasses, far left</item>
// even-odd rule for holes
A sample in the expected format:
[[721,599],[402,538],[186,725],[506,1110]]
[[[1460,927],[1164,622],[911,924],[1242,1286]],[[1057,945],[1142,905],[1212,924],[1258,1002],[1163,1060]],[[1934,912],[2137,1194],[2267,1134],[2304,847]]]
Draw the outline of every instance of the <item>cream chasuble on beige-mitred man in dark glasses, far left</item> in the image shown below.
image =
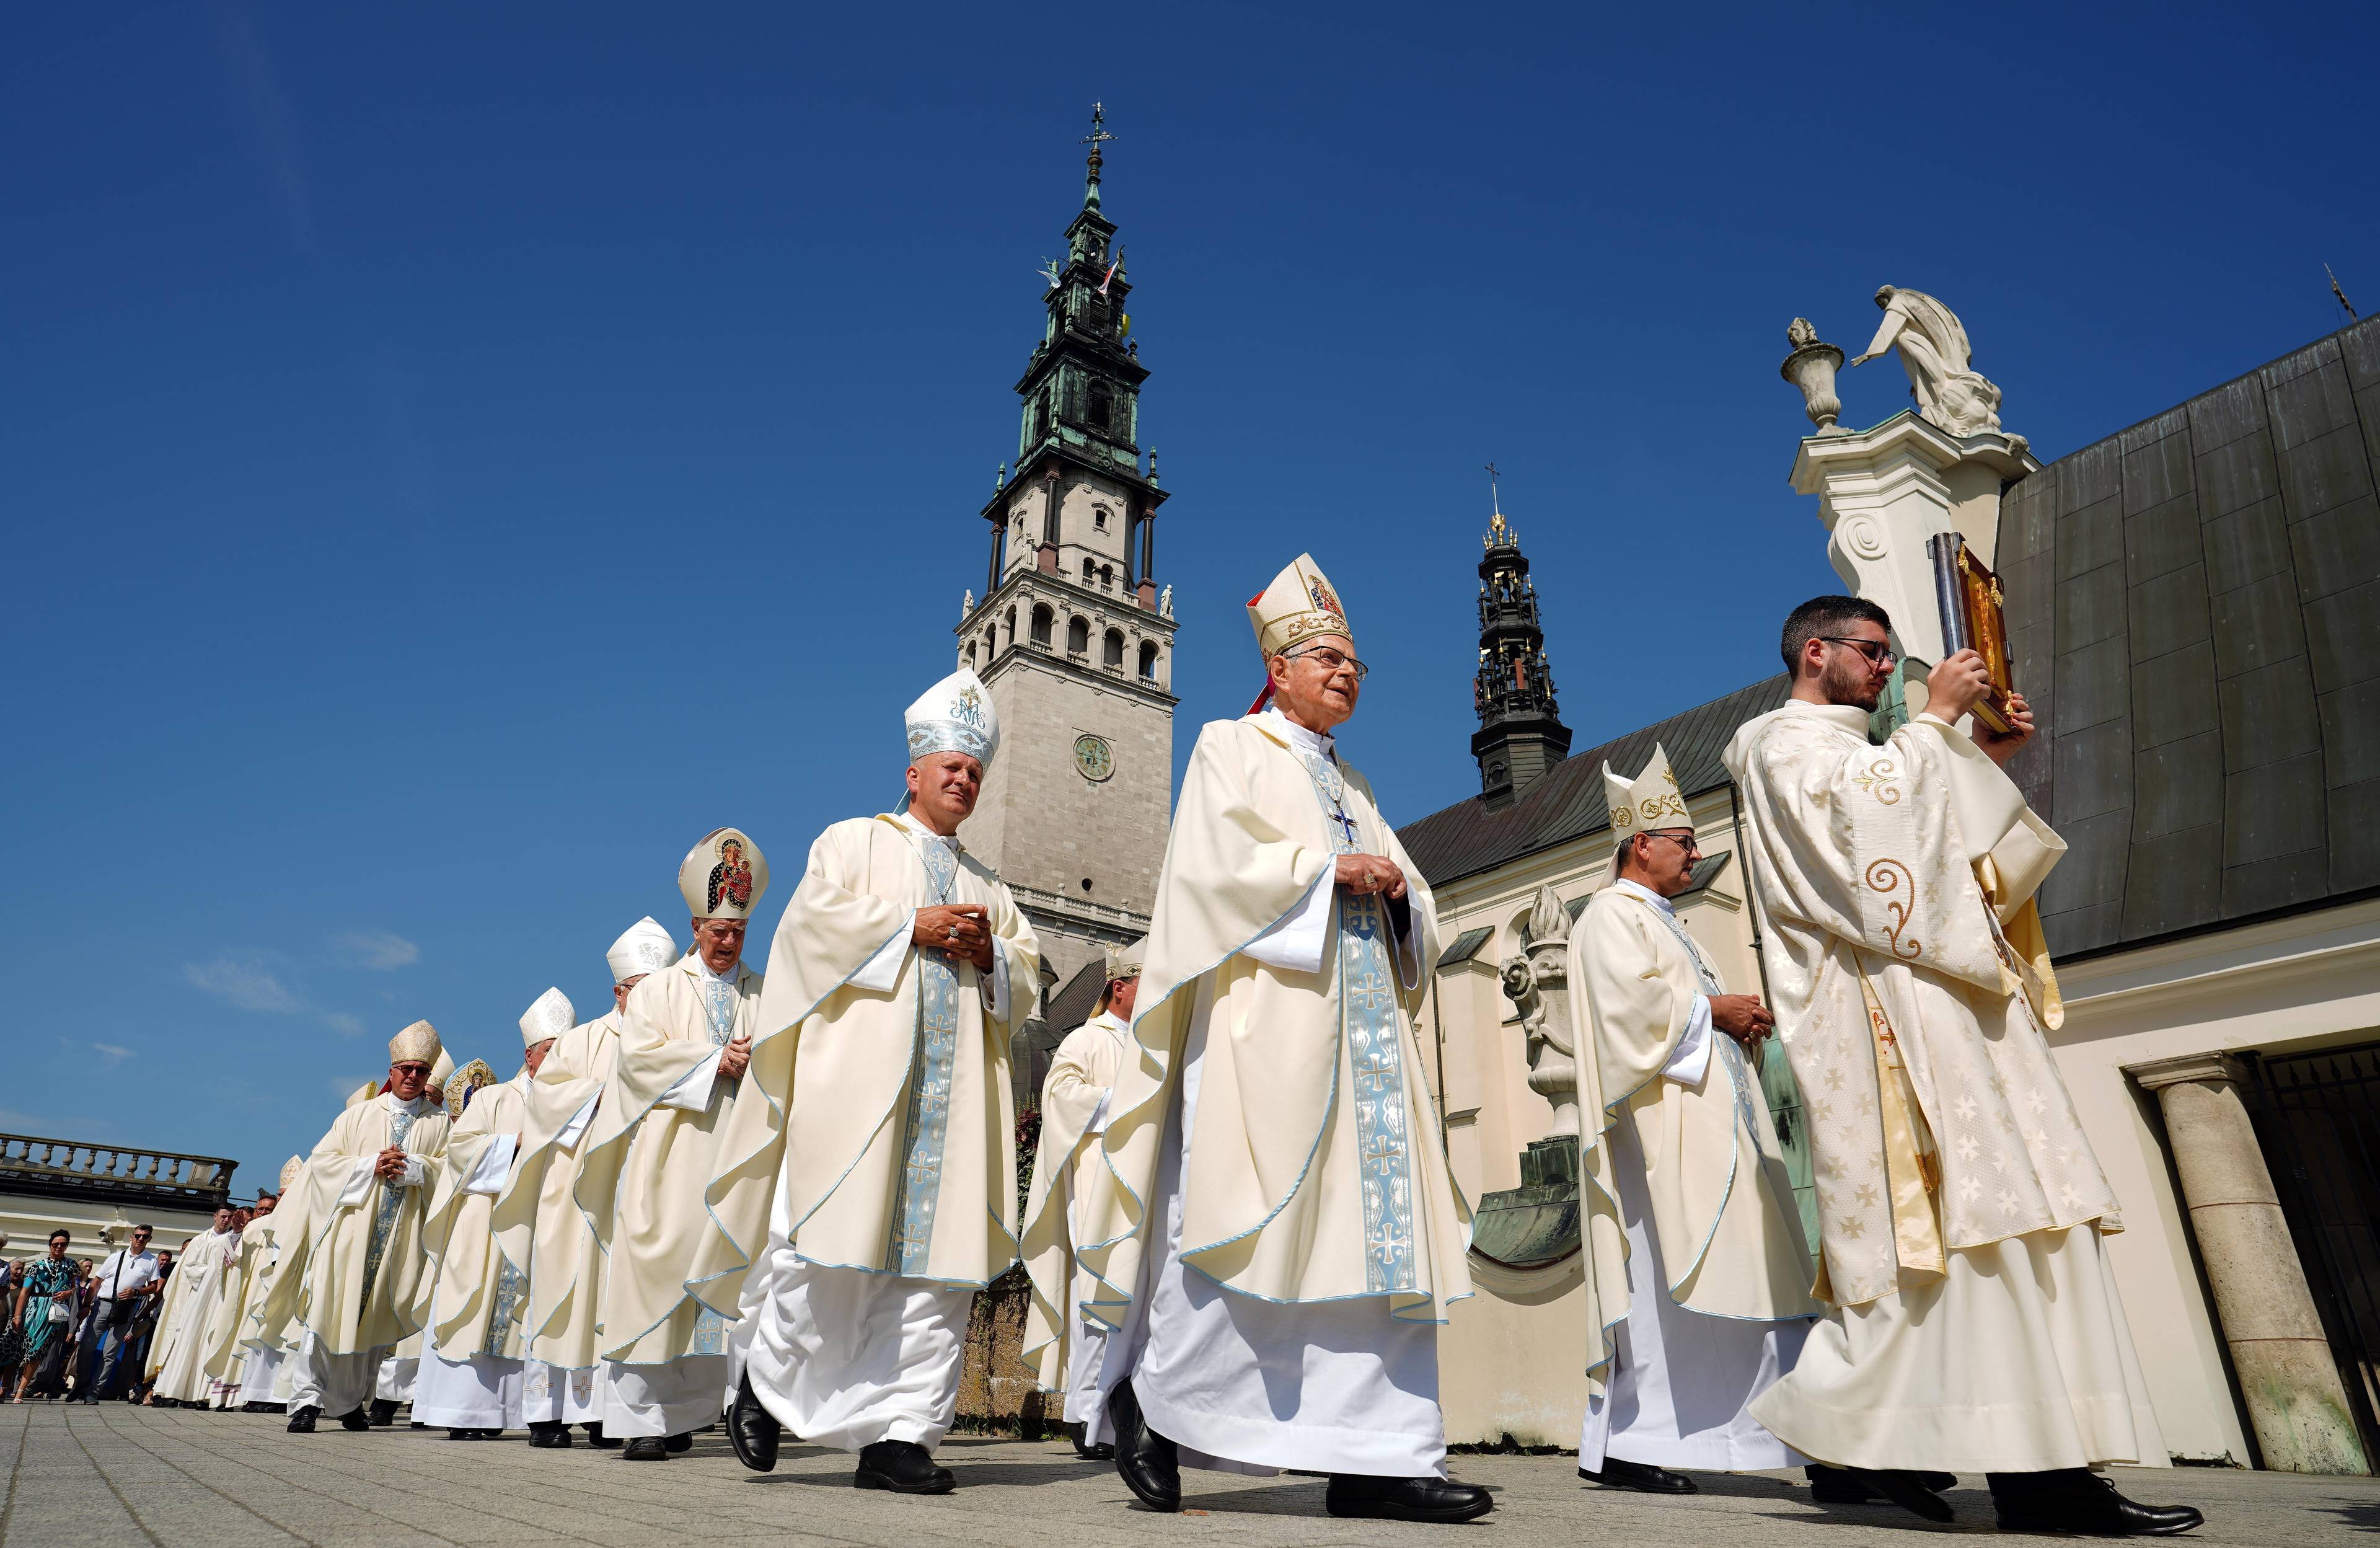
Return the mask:
[[[338,1115],[290,1188],[305,1238],[283,1236],[267,1331],[293,1324],[290,1343],[312,1334],[326,1355],[390,1348],[419,1331],[412,1305],[428,1265],[421,1212],[445,1143],[445,1112],[428,1098],[400,1103],[381,1093]],[[374,1176],[390,1146],[407,1153],[409,1179]]]

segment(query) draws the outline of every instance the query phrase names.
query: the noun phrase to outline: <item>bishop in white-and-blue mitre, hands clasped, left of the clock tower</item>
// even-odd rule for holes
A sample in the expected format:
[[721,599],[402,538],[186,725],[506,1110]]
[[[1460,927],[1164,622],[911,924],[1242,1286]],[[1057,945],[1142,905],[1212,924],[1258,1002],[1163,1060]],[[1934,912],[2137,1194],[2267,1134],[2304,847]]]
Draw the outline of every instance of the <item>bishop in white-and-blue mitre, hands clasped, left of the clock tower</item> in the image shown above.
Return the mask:
[[769,945],[752,1096],[690,1279],[743,1312],[745,1467],[776,1465],[783,1427],[859,1453],[859,1488],[947,1493],[933,1448],[966,1315],[1016,1262],[1009,1036],[1040,943],[959,843],[1000,748],[990,693],[954,672],[904,719],[907,810],[826,829]]

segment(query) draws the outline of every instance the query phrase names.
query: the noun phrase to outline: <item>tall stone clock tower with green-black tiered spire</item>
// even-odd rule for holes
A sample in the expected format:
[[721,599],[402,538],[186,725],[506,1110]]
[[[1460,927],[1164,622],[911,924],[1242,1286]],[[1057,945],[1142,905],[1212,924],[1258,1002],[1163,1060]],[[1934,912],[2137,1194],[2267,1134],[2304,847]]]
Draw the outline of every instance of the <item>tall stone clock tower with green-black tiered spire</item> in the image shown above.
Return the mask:
[[[1016,383],[1016,474],[983,507],[992,557],[959,619],[959,664],[1000,710],[1000,757],[966,845],[1000,872],[1064,984],[1147,934],[1173,810],[1173,607],[1154,579],[1157,452],[1140,460],[1140,345],[1116,226],[1100,212],[1104,114],[1083,212],[1047,274]],[[1045,979],[1052,981],[1052,979]]]

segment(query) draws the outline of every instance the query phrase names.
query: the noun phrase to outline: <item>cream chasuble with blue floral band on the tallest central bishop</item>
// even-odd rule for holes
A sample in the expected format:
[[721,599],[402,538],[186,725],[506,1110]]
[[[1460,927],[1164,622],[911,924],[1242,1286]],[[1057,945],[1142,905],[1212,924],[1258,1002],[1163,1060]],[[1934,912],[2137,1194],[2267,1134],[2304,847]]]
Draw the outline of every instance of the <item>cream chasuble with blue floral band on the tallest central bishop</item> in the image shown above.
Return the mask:
[[[1414,1012],[1385,900],[1338,893],[1345,853],[1388,855],[1411,886],[1411,955],[1438,957],[1430,888],[1380,819],[1361,774],[1292,750],[1276,714],[1214,722],[1190,755],[1150,929],[1133,1048],[1102,1136],[1104,1176],[1076,1200],[1076,1257],[1100,1281],[1088,1310],[1121,1327],[1142,1284],[1164,1136],[1180,1155],[1180,1262],[1240,1296],[1321,1303],[1380,1296],[1442,1322],[1471,1293],[1471,1212],[1454,1191],[1423,1086]],[[1316,891],[1321,888],[1321,891]],[[1259,936],[1321,900],[1321,967],[1271,967]],[[1411,981],[1407,981],[1411,979]],[[1180,1105],[1200,1031],[1200,1098]],[[1054,1215],[1026,1241],[1035,1296],[1026,1357],[1059,1336],[1066,1243]],[[1164,1222],[1157,1224],[1159,1236]]]

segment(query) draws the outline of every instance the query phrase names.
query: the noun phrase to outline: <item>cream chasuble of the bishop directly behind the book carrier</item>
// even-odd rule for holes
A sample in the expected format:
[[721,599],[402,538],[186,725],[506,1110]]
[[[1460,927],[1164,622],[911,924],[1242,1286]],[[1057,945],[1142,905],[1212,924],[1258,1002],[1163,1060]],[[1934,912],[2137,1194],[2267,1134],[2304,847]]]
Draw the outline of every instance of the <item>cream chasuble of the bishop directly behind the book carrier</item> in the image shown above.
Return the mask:
[[[1609,1329],[1630,1317],[1628,1229],[1609,1143],[1626,1124],[1642,1169],[1666,1296],[1704,1317],[1816,1317],[1809,1246],[1759,1076],[1735,1038],[1704,1024],[1709,1062],[1692,1084],[1664,1079],[1697,1000],[1728,993],[1676,915],[1611,884],[1587,900],[1568,948],[1578,1038],[1578,1110],[1587,1236],[1587,1391],[1609,1381]],[[1704,1012],[1706,1017],[1706,1012]],[[1652,1310],[1652,1307],[1647,1307]],[[1749,1396],[1749,1393],[1745,1393]]]

